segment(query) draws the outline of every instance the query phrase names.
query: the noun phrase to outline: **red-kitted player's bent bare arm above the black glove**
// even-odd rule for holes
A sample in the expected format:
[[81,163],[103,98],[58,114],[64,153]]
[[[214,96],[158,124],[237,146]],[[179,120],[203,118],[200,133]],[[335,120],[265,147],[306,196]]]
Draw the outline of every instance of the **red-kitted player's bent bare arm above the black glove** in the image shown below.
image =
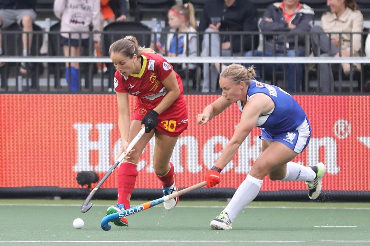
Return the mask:
[[168,93],[164,96],[163,100],[153,110],[158,114],[165,111],[180,95],[180,88],[176,79],[174,71],[172,71],[167,78],[161,81]]

